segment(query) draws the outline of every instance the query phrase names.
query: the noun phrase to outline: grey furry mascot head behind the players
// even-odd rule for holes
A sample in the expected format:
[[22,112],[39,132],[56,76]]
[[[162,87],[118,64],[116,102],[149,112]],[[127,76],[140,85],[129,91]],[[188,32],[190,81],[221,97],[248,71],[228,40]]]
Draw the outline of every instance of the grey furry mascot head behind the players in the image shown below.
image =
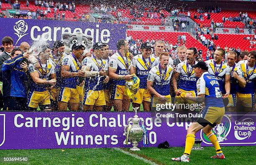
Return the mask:
[[85,47],[84,53],[90,52],[92,48],[92,37],[84,35],[84,33],[62,33],[62,41],[65,44],[65,53],[67,54],[70,54],[75,43],[82,43]]

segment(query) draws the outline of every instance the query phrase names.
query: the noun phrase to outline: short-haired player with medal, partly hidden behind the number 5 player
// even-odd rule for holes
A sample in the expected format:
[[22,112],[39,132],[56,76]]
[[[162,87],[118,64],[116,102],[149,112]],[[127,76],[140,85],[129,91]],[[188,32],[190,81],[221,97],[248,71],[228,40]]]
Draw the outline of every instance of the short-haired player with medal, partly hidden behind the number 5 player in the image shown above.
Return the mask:
[[208,72],[218,80],[220,91],[224,98],[228,98],[230,94],[230,69],[229,66],[222,61],[225,51],[219,48],[214,53],[214,59],[205,61],[208,65]]

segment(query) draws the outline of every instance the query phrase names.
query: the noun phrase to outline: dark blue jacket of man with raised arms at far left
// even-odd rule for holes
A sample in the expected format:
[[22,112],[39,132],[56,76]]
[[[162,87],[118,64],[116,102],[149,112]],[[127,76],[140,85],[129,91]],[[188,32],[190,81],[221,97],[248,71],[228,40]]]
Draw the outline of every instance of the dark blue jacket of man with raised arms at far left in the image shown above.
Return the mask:
[[20,68],[20,62],[24,59],[20,54],[3,63],[3,96],[27,97],[25,81],[28,80],[26,73]]

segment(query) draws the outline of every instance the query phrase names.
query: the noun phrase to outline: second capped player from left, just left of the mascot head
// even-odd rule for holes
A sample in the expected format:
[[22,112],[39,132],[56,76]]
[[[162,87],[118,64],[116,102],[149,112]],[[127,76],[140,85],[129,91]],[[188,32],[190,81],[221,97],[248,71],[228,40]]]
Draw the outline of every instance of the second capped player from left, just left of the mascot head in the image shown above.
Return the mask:
[[59,86],[62,84],[62,78],[60,74],[61,63],[64,58],[64,43],[63,41],[55,41],[53,47],[51,48],[51,54],[49,61],[55,66],[56,73],[56,85],[50,90],[51,95],[51,107],[54,110],[58,110],[58,96],[59,96]]

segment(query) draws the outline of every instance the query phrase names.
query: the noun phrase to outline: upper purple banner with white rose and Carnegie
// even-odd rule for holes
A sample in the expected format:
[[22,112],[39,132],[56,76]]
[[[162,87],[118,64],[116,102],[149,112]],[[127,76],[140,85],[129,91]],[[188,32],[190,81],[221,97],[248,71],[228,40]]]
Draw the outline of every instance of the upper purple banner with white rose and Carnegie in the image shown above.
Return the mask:
[[110,49],[116,49],[116,42],[125,38],[125,25],[110,23],[89,23],[89,22],[70,22],[58,20],[29,20],[0,18],[0,38],[10,36],[14,40],[14,45],[26,41],[32,44],[34,41],[61,40],[64,32],[80,32],[92,36],[93,42],[108,43]]

